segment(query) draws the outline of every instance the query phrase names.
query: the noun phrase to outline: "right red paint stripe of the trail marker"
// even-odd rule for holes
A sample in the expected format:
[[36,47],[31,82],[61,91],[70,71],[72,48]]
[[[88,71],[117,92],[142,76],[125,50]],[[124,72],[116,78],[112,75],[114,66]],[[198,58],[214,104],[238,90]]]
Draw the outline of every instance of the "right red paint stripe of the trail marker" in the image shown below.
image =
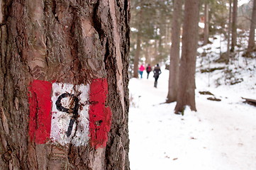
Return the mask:
[[89,132],[90,143],[95,149],[106,147],[108,132],[111,128],[111,110],[106,108],[108,82],[106,79],[94,79],[90,85],[89,94]]

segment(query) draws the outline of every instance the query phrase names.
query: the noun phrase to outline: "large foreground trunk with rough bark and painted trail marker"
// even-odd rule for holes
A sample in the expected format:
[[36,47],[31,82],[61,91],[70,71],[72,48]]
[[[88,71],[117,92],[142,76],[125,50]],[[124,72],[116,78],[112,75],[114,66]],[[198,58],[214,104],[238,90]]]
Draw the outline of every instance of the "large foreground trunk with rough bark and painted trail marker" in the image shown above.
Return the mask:
[[130,169],[129,1],[1,2],[0,169]]

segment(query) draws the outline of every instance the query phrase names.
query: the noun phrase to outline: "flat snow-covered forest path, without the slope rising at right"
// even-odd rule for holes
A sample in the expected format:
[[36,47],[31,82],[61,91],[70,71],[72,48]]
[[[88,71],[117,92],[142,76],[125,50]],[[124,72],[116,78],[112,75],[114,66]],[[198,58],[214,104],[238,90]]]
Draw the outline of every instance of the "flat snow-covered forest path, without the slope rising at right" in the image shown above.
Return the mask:
[[152,74],[145,76],[129,83],[131,170],[256,169],[255,107],[196,95],[197,112],[175,115],[175,103],[160,104],[167,95],[165,70],[157,89]]

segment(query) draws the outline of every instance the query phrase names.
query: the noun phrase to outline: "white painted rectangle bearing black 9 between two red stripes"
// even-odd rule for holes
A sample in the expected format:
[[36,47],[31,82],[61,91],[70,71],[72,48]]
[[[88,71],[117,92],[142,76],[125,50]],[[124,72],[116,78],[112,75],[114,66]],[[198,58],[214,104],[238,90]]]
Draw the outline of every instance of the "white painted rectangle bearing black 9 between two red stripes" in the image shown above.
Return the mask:
[[52,84],[50,138],[65,145],[89,141],[89,85]]

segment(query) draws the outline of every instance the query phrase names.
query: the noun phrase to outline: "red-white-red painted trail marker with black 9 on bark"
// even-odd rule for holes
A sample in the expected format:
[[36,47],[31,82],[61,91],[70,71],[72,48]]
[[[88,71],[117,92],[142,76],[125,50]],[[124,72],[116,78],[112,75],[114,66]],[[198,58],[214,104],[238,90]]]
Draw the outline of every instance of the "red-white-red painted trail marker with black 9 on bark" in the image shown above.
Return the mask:
[[30,141],[106,147],[111,128],[106,79],[76,86],[34,80],[28,90]]

